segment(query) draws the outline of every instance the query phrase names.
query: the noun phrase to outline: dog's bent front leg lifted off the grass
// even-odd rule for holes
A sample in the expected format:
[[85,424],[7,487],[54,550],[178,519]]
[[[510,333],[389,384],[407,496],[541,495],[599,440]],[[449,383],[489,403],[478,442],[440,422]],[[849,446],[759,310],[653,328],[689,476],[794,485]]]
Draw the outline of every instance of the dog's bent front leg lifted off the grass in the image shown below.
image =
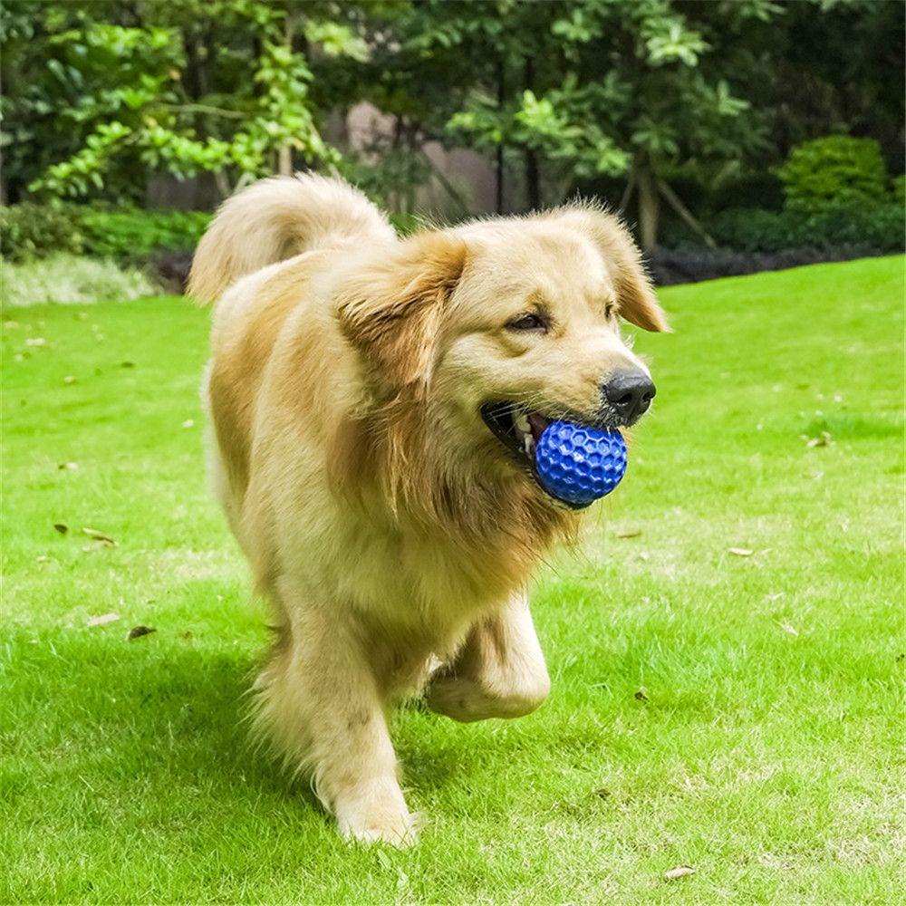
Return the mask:
[[520,594],[478,622],[450,663],[431,677],[429,708],[456,720],[519,718],[551,689],[532,614]]

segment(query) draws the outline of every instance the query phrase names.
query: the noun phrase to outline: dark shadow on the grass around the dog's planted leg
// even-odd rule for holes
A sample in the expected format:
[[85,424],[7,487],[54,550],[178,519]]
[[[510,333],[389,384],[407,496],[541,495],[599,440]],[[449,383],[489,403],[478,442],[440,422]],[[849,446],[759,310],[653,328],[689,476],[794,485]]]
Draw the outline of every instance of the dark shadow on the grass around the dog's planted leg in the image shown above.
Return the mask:
[[[294,811],[322,814],[308,778],[291,776],[251,737],[256,649],[245,641],[212,649],[164,631],[126,641],[120,623],[37,637],[16,627],[7,700],[28,743],[15,774],[91,786],[140,781],[149,792],[207,790],[237,802],[295,800]],[[444,718],[412,717],[393,724],[407,784],[437,790],[461,782],[468,739],[451,745],[437,726]],[[12,786],[10,793],[28,795],[31,784]]]

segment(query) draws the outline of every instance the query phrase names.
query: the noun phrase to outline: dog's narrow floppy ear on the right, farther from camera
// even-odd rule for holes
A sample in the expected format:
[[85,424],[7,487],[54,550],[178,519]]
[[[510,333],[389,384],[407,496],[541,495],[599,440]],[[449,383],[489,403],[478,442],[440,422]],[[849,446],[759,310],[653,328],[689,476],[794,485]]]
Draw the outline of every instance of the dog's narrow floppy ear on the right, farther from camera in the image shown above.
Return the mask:
[[555,216],[564,226],[588,236],[600,249],[612,276],[622,317],[646,331],[669,331],[667,315],[641,264],[639,248],[620,218],[591,205],[567,208]]

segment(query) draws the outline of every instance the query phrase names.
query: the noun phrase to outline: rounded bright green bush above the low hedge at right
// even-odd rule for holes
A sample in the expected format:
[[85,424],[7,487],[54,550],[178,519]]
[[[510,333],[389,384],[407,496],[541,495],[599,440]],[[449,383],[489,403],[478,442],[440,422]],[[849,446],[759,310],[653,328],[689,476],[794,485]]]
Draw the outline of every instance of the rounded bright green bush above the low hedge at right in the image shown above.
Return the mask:
[[778,171],[790,206],[878,202],[887,197],[887,169],[873,139],[829,135],[797,145]]

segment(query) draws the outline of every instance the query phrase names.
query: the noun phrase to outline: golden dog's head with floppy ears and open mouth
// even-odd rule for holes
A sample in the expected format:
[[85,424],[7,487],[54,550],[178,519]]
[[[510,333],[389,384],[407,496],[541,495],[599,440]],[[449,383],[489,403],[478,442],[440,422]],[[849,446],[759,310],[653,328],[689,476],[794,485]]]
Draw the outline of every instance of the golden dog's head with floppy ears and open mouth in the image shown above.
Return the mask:
[[338,303],[372,399],[408,419],[410,468],[542,499],[534,449],[551,420],[618,429],[651,405],[619,319],[667,329],[631,237],[594,207],[413,236]]

